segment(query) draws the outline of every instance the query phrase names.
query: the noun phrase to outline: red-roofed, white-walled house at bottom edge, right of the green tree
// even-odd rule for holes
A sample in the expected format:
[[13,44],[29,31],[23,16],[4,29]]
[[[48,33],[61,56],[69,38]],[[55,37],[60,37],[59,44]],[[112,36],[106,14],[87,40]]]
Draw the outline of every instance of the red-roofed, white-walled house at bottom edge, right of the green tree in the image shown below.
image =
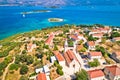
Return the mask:
[[105,75],[102,70],[91,70],[88,71],[89,80],[105,80]]

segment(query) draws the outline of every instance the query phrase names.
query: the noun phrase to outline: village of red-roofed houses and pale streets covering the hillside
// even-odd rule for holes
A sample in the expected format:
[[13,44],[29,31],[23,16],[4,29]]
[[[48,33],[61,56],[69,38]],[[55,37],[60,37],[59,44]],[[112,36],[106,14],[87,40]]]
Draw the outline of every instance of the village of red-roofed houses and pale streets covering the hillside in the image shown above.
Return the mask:
[[21,54],[24,49],[29,54],[38,52],[37,60],[42,63],[33,69],[35,75],[29,76],[30,80],[82,80],[77,76],[82,70],[87,74],[83,80],[120,80],[120,28],[74,25],[44,33],[44,39],[32,36],[17,40],[27,42],[23,45],[26,48],[20,48]]

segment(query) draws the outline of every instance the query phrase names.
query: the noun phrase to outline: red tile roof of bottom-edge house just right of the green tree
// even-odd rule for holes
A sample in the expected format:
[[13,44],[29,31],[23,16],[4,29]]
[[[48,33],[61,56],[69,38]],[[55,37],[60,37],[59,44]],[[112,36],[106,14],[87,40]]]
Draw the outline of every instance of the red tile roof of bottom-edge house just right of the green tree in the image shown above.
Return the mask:
[[102,77],[104,76],[104,73],[102,72],[102,70],[91,70],[88,71],[88,75],[92,79],[92,78]]

